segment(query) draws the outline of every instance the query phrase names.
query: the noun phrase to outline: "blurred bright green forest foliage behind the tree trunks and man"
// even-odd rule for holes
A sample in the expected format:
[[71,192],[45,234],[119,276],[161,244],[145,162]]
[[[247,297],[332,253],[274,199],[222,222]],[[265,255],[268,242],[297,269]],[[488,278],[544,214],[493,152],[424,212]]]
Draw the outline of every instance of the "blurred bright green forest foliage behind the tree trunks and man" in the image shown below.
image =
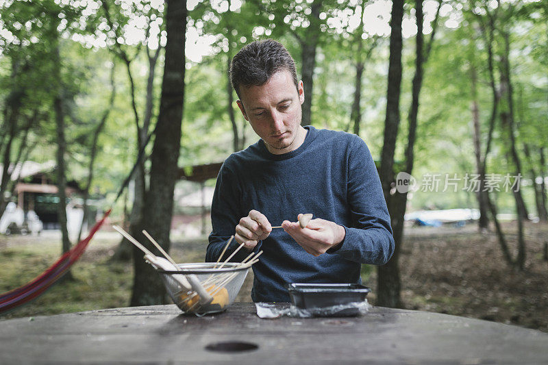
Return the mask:
[[[314,5],[315,4],[315,5]],[[319,18],[312,16],[312,5],[321,5]],[[425,9],[429,3],[425,3]],[[503,51],[502,32],[510,34],[510,66],[514,87],[517,147],[524,169],[541,170],[538,149],[547,147],[548,127],[548,38],[543,2],[444,2],[434,48],[425,64],[421,91],[419,125],[415,145],[413,175],[448,173],[463,177],[475,173],[471,114],[471,71],[477,72],[477,101],[484,151],[488,120],[493,105],[488,74],[486,38],[482,24],[489,16],[495,20],[495,81],[499,84],[499,60]],[[201,36],[211,46],[201,54],[192,51],[195,38],[187,37],[186,93],[182,153],[179,166],[219,162],[233,151],[232,124],[228,114],[227,62],[245,43],[265,37],[281,40],[301,70],[301,42],[311,36],[312,25],[321,34],[314,70],[312,118],[314,125],[330,129],[348,129],[353,102],[358,43],[367,50],[377,45],[364,64],[362,79],[361,137],[366,140],[375,159],[379,159],[384,136],[388,36],[382,27],[371,29],[379,5],[361,1],[198,1],[189,4],[188,34]],[[360,29],[359,19],[365,7],[367,23]],[[375,8],[377,6],[377,8]],[[63,90],[67,105],[67,140],[69,142],[69,179],[84,181],[90,143],[110,98],[110,68],[115,67],[116,99],[103,134],[99,137],[96,174],[91,191],[112,197],[136,158],[137,135],[132,110],[131,87],[125,60],[129,58],[134,75],[136,106],[142,119],[145,111],[148,58],[145,50],[154,51],[165,42],[163,5],[149,1],[88,1],[86,4],[58,1],[6,1],[0,8],[0,110],[10,105],[14,95],[23,95],[21,121],[35,111],[40,122],[32,128],[30,144],[36,144],[29,159],[43,162],[55,154],[51,99],[56,87]],[[61,15],[60,15],[61,14]],[[406,8],[406,21],[414,21],[412,4]],[[358,18],[356,18],[358,16]],[[375,18],[376,16],[376,18]],[[427,12],[425,25],[432,22]],[[66,19],[66,20],[63,20]],[[316,23],[314,23],[316,22]],[[52,29],[54,32],[52,32]],[[133,36],[127,29],[134,29]],[[361,36],[362,29],[364,36]],[[425,32],[428,32],[425,27]],[[410,33],[412,34],[412,33]],[[192,36],[192,37],[194,37]],[[414,36],[403,42],[403,80],[401,95],[401,130],[396,159],[403,160],[407,141],[407,113],[410,105],[411,77],[414,72]],[[429,37],[426,34],[425,39]],[[360,39],[364,38],[364,39]],[[52,51],[58,42],[62,59],[62,79],[53,79]],[[207,54],[206,54],[207,53]],[[160,54],[159,65],[162,64]],[[24,72],[22,71],[24,70]],[[155,77],[152,125],[158,114],[162,69]],[[55,88],[54,88],[55,86]],[[234,95],[234,97],[236,97]],[[236,124],[245,126],[236,105],[232,105]],[[507,108],[501,104],[501,108]],[[4,114],[0,115],[2,125]],[[23,125],[23,124],[19,124]],[[0,137],[5,129],[0,130]],[[245,127],[245,146],[257,140]],[[523,144],[530,144],[532,159],[523,158]],[[16,146],[18,145],[16,142]],[[1,147],[1,142],[0,142]],[[149,150],[148,150],[149,151]],[[508,134],[498,121],[487,159],[491,173],[513,173],[508,164]],[[546,166],[544,166],[546,170]],[[532,189],[524,186],[529,205]],[[109,199],[110,199],[109,198]],[[475,197],[465,191],[416,192],[410,197],[411,209],[429,206],[473,207]],[[497,201],[503,210],[512,212],[512,197],[500,193]]]

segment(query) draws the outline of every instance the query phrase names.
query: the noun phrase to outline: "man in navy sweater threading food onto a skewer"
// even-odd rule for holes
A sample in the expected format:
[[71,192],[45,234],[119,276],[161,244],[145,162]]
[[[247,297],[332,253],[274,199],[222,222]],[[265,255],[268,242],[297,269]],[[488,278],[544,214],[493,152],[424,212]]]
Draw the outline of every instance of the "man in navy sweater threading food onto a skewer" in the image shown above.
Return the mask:
[[[245,46],[230,79],[261,139],[221,167],[206,261],[232,235],[224,257],[242,243],[233,261],[264,251],[253,265],[253,301],[289,301],[288,283],[358,283],[362,263],[388,262],[394,239],[371,153],[356,135],[301,126],[303,82],[284,46]],[[303,213],[314,214],[305,228],[291,222]]]

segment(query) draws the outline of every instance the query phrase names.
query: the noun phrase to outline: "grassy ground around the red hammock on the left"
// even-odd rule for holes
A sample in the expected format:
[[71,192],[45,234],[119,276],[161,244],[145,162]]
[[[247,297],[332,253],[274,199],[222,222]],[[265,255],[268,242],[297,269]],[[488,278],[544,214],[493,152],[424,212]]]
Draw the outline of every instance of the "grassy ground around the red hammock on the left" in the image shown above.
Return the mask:
[[[45,294],[0,316],[1,319],[125,307],[132,285],[132,265],[110,262],[116,241],[92,240],[73,266],[73,280],[62,280]],[[0,292],[40,275],[60,256],[60,240],[12,236],[0,238]]]

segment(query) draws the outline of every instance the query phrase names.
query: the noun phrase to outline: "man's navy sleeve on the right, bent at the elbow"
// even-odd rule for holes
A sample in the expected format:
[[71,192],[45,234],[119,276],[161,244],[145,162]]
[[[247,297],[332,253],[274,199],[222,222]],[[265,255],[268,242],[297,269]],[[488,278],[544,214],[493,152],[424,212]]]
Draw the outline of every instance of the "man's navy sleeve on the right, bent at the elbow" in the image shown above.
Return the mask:
[[390,215],[375,162],[359,137],[353,138],[348,153],[347,203],[351,225],[343,225],[345,239],[327,253],[362,264],[386,264],[395,247]]

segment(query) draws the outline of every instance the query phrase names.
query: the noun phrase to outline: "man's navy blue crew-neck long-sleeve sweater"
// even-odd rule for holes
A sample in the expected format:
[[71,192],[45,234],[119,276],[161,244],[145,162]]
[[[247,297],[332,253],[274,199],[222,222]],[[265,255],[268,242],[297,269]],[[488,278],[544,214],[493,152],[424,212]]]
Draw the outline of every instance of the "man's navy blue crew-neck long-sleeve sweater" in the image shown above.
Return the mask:
[[[289,301],[288,283],[359,283],[361,264],[385,264],[394,251],[390,216],[365,142],[341,131],[306,129],[295,151],[275,155],[259,140],[232,153],[217,177],[208,262],[219,258],[250,210],[264,214],[271,225],[312,213],[345,227],[343,243],[317,257],[283,229],[273,229],[253,250],[264,251],[253,265],[253,301]],[[223,257],[238,245],[234,240]],[[247,255],[242,249],[231,261]]]

